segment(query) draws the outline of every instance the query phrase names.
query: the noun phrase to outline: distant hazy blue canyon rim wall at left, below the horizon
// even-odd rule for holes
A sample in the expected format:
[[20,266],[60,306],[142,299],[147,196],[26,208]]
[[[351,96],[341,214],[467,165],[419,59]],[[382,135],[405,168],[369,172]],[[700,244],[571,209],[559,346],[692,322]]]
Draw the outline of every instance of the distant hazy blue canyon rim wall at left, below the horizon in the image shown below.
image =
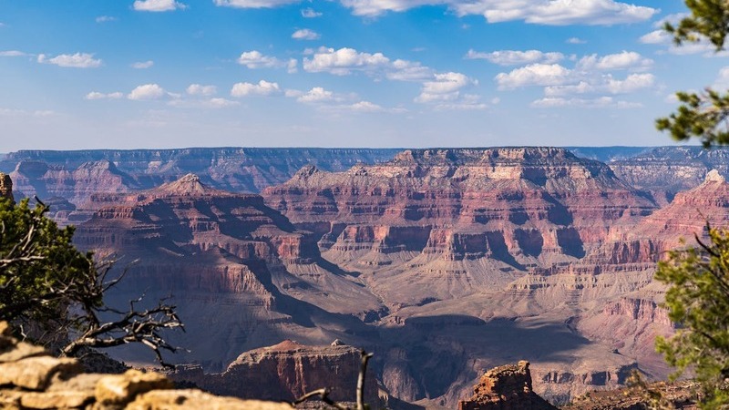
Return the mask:
[[137,149],[25,150],[0,160],[17,192],[41,200],[60,197],[83,206],[92,193],[149,190],[190,172],[213,188],[258,192],[313,163],[348,169],[391,159],[395,149]]

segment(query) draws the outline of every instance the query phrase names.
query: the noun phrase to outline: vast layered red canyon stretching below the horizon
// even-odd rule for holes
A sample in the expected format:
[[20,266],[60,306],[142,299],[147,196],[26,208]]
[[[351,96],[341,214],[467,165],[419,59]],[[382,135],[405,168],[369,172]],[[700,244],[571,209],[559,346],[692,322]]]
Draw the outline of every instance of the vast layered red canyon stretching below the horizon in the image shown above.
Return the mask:
[[665,377],[652,273],[729,220],[727,164],[694,147],[181,149],[20,151],[0,171],[118,259],[108,302],[178,305],[187,333],[170,338],[189,352],[173,359],[225,377],[206,389],[250,398],[224,386],[268,357],[288,390],[266,394],[288,397],[352,374],[364,348],[380,395],[455,408],[521,359],[553,403]]

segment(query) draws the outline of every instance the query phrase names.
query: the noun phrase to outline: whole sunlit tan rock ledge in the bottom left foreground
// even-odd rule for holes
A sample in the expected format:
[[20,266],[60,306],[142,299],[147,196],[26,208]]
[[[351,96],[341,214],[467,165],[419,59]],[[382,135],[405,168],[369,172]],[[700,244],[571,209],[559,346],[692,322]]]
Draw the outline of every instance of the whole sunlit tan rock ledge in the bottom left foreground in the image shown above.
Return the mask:
[[272,402],[240,400],[172,390],[162,374],[128,370],[124,374],[84,374],[76,359],[52,357],[32,344],[18,342],[0,323],[0,407],[16,410],[231,409],[283,410]]

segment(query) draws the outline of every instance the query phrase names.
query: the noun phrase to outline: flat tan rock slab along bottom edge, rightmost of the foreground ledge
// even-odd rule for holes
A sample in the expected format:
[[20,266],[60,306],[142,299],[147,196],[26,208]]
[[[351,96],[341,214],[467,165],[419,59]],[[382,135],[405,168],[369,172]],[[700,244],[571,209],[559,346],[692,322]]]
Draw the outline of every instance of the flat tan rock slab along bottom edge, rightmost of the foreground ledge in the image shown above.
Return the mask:
[[220,397],[200,390],[158,390],[139,395],[127,410],[291,410],[291,405]]

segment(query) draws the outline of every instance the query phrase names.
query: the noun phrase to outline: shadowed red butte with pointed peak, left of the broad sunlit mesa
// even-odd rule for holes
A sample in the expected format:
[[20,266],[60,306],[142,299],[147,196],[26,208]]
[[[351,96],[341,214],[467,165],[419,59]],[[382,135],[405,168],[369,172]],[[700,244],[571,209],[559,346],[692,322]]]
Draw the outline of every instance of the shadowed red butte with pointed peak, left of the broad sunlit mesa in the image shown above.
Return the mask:
[[[332,340],[339,334],[313,323],[382,308],[350,277],[329,271],[312,235],[296,231],[261,197],[213,190],[194,175],[114,196],[78,225],[74,239],[99,256],[123,258],[118,264],[138,260],[108,300],[123,305],[142,292],[150,300],[171,294],[189,331],[179,342],[191,352],[180,360],[208,369],[289,335]],[[345,298],[358,303],[336,302]]]

